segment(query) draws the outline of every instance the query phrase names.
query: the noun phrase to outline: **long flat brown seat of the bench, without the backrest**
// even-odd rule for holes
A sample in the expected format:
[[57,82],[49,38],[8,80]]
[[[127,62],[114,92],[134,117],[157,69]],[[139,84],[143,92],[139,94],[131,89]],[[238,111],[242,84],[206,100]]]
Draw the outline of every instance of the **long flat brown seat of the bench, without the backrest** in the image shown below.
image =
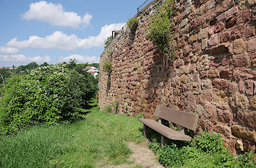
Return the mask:
[[192,138],[190,136],[185,135],[184,133],[180,133],[178,131],[174,131],[171,128],[162,125],[161,123],[156,122],[155,120],[139,118],[140,122],[147,125],[149,128],[161,133],[166,138],[172,140],[179,140],[179,141],[191,141]]

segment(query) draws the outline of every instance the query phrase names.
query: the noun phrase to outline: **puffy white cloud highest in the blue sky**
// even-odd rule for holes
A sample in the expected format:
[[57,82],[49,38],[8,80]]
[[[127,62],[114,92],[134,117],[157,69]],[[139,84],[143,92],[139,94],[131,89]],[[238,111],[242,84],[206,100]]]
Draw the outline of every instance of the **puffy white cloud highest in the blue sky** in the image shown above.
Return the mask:
[[30,9],[22,14],[24,19],[38,19],[51,25],[78,28],[90,25],[93,18],[89,13],[82,18],[75,12],[65,12],[61,4],[53,4],[47,1],[39,1],[30,4]]

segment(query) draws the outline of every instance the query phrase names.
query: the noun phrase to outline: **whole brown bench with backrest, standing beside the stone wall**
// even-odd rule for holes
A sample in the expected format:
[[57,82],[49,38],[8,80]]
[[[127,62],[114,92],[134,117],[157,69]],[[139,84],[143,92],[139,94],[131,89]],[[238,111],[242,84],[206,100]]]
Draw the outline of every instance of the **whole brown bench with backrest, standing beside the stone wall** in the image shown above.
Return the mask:
[[145,138],[150,139],[148,128],[151,128],[154,131],[157,131],[158,133],[161,134],[162,146],[164,143],[166,143],[168,139],[179,140],[179,141],[192,140],[190,136],[187,136],[185,134],[184,129],[179,132],[169,128],[168,121],[171,121],[171,123],[175,123],[177,125],[181,125],[184,128],[188,128],[192,131],[195,131],[197,128],[197,121],[198,121],[198,115],[196,115],[195,113],[184,112],[180,110],[174,110],[168,107],[157,106],[155,108],[155,116],[160,118],[159,122],[155,120],[139,118],[140,122],[144,124],[143,132],[144,132]]

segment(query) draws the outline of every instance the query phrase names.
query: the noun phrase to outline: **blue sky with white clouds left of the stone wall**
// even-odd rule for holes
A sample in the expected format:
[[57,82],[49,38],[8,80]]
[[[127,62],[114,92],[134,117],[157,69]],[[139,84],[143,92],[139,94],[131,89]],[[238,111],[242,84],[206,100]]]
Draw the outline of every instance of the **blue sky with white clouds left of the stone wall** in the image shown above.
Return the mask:
[[0,67],[76,58],[94,63],[111,30],[145,0],[1,0]]

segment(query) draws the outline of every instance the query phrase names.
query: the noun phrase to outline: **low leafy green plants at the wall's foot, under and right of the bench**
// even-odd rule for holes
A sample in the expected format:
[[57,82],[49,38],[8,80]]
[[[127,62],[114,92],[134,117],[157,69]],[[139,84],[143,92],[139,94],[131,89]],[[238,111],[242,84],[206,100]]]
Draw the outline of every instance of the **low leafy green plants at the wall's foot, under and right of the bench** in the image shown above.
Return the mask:
[[[174,141],[173,141],[174,142]],[[176,143],[161,146],[153,139],[150,149],[158,155],[164,167],[254,167],[253,152],[235,158],[220,139],[213,133],[200,133],[190,146]]]

